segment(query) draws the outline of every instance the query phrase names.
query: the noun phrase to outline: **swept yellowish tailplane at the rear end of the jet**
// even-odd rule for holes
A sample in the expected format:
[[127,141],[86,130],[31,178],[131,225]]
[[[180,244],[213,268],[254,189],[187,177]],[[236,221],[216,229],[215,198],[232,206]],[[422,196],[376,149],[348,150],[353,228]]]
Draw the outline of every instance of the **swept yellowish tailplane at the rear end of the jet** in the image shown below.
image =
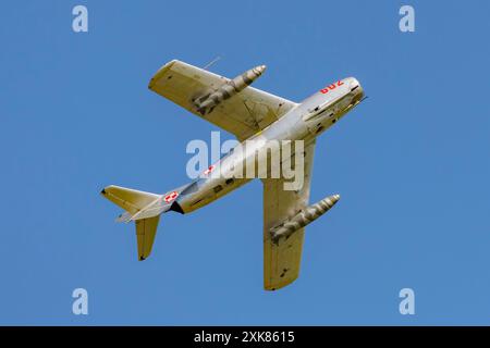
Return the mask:
[[169,204],[161,204],[162,196],[160,195],[113,185],[103,188],[100,194],[126,210],[118,221],[135,221],[138,260],[143,261],[148,258],[154,246],[160,214],[168,210]]

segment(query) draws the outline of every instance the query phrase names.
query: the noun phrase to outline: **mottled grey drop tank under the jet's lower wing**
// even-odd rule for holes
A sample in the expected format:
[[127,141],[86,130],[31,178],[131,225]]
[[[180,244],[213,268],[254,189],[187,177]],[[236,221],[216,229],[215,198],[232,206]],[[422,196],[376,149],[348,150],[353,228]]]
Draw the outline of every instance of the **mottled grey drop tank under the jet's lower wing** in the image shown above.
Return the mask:
[[270,229],[272,240],[278,244],[281,237],[290,237],[297,229],[310,224],[327,211],[329,211],[339,201],[340,195],[329,196],[322,200],[311,204],[293,217],[286,220],[279,226],[274,226]]

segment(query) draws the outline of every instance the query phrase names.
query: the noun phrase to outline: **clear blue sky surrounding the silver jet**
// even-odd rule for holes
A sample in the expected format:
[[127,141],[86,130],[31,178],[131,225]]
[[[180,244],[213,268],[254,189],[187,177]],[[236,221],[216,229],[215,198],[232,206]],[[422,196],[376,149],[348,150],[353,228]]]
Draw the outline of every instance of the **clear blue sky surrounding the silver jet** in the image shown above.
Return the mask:
[[[399,30],[414,5],[416,32]],[[85,4],[89,32],[72,32]],[[490,324],[488,1],[15,1],[0,12],[0,324]],[[187,181],[216,128],[147,89],[180,59],[302,100],[370,97],[319,139],[302,274],[262,290],[261,184],[166,214],[154,254],[99,196]],[[230,138],[230,135],[222,135]],[[89,315],[72,314],[72,290]],[[411,287],[416,315],[401,315]]]

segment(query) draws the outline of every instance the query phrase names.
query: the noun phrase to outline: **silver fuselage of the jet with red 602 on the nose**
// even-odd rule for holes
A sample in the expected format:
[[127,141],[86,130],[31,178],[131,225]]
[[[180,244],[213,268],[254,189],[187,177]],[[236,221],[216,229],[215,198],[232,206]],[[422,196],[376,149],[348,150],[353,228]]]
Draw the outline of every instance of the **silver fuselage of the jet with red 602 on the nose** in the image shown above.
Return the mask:
[[[363,97],[363,88],[354,77],[335,82],[305,99],[267,128],[245,140],[247,145],[253,142],[255,147],[254,151],[246,151],[246,153],[256,159],[257,152],[267,146],[269,140],[304,140],[306,146],[351,111]],[[244,161],[243,153],[230,151],[212,166],[219,169],[221,175],[203,174],[181,192],[174,202],[176,209],[173,210],[188,213],[252,181],[247,177],[230,178],[231,175],[225,174],[233,170],[237,161]]]

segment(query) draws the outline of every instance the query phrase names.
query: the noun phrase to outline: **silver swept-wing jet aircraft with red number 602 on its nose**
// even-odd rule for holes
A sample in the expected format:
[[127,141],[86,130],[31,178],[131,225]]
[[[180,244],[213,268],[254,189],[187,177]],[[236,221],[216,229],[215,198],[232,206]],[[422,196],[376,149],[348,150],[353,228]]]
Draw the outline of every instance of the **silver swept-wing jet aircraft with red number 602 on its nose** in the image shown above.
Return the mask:
[[[254,140],[258,144],[252,152],[254,158],[269,140],[304,141],[301,188],[284,189],[283,177],[261,178],[264,287],[275,290],[298,277],[305,226],[340,199],[332,195],[309,204],[316,138],[363,101],[364,90],[356,78],[347,77],[296,103],[249,86],[265,70],[265,65],[259,65],[229,79],[173,60],[155,74],[148,88],[233,134],[241,142]],[[162,213],[189,213],[252,181],[222,175],[232,171],[237,161],[244,161],[243,157],[241,151],[230,151],[198,178],[163,195],[114,185],[103,188],[101,195],[125,210],[117,221],[135,222],[138,259],[145,260],[151,252]],[[211,175],[217,167],[221,174]]]

